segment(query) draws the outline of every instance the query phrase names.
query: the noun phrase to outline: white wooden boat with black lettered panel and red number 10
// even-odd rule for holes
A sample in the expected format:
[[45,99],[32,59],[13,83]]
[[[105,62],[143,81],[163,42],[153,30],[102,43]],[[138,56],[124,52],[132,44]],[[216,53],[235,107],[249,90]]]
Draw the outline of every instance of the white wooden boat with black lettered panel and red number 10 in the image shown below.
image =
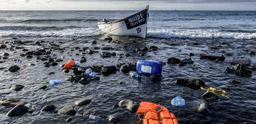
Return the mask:
[[143,37],[147,36],[148,5],[144,10],[120,20],[98,22],[100,30],[107,34]]

